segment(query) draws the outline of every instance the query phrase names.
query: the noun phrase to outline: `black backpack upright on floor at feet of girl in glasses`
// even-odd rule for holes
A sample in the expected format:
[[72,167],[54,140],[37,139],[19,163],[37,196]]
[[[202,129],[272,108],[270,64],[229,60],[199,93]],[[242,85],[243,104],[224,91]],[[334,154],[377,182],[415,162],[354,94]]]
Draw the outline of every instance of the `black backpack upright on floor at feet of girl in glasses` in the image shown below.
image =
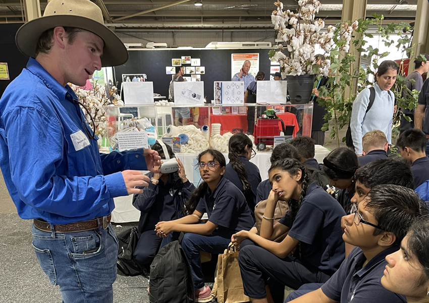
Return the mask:
[[173,241],[159,249],[150,265],[149,302],[195,302],[191,268],[179,241]]

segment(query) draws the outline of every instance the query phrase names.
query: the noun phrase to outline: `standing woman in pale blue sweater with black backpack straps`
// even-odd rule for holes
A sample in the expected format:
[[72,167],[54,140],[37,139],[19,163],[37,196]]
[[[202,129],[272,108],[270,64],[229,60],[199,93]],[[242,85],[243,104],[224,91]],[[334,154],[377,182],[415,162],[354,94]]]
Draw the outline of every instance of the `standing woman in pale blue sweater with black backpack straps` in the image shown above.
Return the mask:
[[[376,73],[377,82],[374,83],[373,88],[363,89],[353,102],[350,131],[355,153],[358,156],[362,156],[363,135],[374,129],[383,131],[389,146],[392,145],[395,96],[390,89],[395,84],[397,74],[398,65],[395,61],[383,61]],[[374,98],[370,106],[371,90]]]

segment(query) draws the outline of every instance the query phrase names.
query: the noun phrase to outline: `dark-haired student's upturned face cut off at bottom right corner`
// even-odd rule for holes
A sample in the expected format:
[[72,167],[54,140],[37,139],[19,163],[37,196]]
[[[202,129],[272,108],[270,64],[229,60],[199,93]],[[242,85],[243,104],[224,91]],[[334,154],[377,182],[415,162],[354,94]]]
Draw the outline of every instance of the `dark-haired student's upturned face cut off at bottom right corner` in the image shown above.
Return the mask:
[[381,279],[390,291],[406,296],[407,302],[427,302],[429,295],[429,219],[413,223],[401,249],[386,257],[388,265]]

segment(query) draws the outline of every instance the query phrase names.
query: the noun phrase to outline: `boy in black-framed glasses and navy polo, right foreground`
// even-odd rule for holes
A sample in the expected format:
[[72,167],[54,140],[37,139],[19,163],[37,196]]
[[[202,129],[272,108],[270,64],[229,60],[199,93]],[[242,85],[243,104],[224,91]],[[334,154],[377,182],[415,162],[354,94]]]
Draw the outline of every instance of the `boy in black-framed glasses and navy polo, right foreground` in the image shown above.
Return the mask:
[[325,284],[306,294],[299,289],[286,302],[405,302],[404,296],[392,292],[394,288],[385,289],[380,279],[386,256],[399,249],[407,229],[421,215],[420,199],[412,189],[398,185],[373,187],[345,217],[343,239],[357,247]]

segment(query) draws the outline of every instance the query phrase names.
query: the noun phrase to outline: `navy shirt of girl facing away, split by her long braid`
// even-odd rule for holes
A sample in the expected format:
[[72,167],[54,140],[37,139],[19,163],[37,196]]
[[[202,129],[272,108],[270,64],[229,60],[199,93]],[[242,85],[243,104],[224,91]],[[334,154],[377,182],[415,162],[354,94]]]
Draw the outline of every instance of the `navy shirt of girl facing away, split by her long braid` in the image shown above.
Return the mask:
[[[256,201],[256,189],[258,188],[258,185],[262,178],[260,176],[258,167],[251,163],[249,160],[247,160],[246,157],[239,156],[239,160],[241,163],[243,163],[244,170],[247,174],[247,181],[250,183],[250,186],[252,186],[252,199],[251,201],[247,201],[247,205],[249,206],[250,211],[254,212],[255,205],[259,202]],[[235,186],[238,187],[238,189],[243,191],[243,184],[238,178],[237,172],[232,168],[231,163],[227,164],[224,177],[230,180]]]

